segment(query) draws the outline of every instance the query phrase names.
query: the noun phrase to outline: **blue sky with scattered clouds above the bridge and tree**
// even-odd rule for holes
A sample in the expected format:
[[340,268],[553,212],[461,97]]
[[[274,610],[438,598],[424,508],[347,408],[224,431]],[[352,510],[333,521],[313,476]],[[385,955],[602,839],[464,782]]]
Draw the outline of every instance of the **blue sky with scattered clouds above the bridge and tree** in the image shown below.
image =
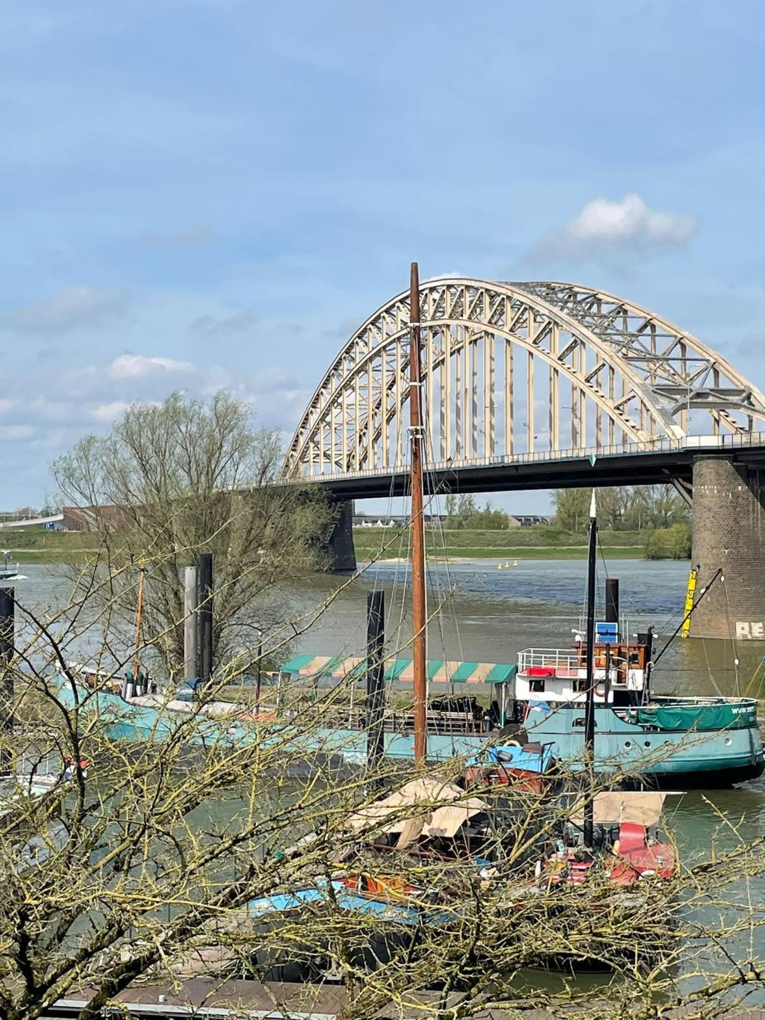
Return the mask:
[[0,509],[173,390],[291,435],[413,259],[625,295],[765,387],[764,37],[750,0],[4,0]]

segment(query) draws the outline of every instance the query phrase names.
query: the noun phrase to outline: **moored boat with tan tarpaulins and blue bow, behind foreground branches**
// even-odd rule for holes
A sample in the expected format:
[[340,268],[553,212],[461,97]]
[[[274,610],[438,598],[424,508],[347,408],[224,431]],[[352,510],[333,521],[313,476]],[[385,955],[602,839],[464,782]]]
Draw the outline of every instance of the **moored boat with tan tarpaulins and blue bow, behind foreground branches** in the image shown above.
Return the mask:
[[[597,794],[591,847],[581,795],[570,795],[576,807],[560,817],[555,847],[529,846],[519,859],[512,792],[498,793],[489,801],[469,786],[424,776],[351,815],[344,828],[361,842],[339,856],[330,876],[248,904],[237,925],[246,970],[260,979],[342,980],[340,941],[345,963],[356,972],[397,959],[409,965],[423,947],[438,944],[448,952],[451,933],[469,924],[476,909],[531,923],[539,913],[558,917],[564,927],[580,924],[580,904],[571,894],[586,887],[595,894],[588,903],[596,913],[615,910],[622,922],[633,918],[635,938],[647,912],[664,909],[667,898],[657,902],[654,883],[676,871],[674,849],[660,829],[665,795]],[[547,803],[516,804],[519,831],[529,810],[555,817],[560,807],[558,795]],[[375,824],[375,834],[364,837]],[[513,928],[510,923],[496,934],[508,952]],[[614,950],[611,962],[617,957]],[[558,945],[537,962],[567,967],[572,961]],[[608,964],[608,950],[598,948],[594,962]]]

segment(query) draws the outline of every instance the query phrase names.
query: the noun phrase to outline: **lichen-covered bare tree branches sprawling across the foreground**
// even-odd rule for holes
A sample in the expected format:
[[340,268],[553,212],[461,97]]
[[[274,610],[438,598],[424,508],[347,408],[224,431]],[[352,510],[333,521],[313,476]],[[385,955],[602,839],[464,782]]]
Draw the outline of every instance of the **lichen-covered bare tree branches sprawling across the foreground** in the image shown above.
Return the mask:
[[[425,798],[385,817],[373,807],[380,787],[407,778],[401,764],[370,774],[340,761],[359,748],[363,757],[363,722],[352,725],[355,679],[306,686],[299,678],[259,704],[247,688],[224,702],[241,676],[235,654],[182,711],[159,696],[152,708],[113,693],[132,649],[121,662],[114,647],[97,654],[111,663],[98,674],[70,667],[89,634],[102,640],[97,624],[108,624],[106,594],[115,576],[121,592],[120,574],[135,585],[130,566],[114,565],[108,577],[92,571],[88,588],[81,582],[45,616],[17,605],[16,652],[0,664],[0,757],[14,758],[18,777],[0,816],[0,1014],[8,1020],[37,1020],[62,998],[83,999],[81,1017],[94,1020],[142,981],[265,979],[294,961],[340,982],[348,1020],[384,1008],[443,1020],[563,1006],[593,1018],[686,1006],[712,1016],[762,988],[763,917],[750,883],[765,874],[765,839],[738,838],[719,815],[724,848],[685,860],[675,879],[615,888],[604,870],[553,885],[536,861],[572,812],[572,796],[580,806],[588,793],[564,775],[564,793],[457,789],[451,806],[478,797],[493,819],[482,851],[491,864],[445,855],[438,837],[415,839],[441,802]],[[264,654],[277,658],[279,644],[325,608],[286,620]],[[51,761],[68,777],[35,785],[30,765]],[[434,773],[452,789],[463,762]],[[401,843],[381,856],[392,823]],[[379,912],[344,903],[361,875],[376,882]],[[263,911],[264,901],[296,892],[311,902]],[[574,980],[555,987],[534,977],[536,968],[592,962],[612,974],[595,999]],[[286,989],[267,987],[278,1005]]]

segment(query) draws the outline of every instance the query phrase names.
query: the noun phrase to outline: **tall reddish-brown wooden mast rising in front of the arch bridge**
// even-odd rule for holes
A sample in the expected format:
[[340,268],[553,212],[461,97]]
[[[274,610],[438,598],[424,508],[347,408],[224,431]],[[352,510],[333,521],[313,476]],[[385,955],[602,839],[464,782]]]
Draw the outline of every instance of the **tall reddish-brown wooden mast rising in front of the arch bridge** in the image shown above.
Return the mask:
[[425,679],[425,531],[422,513],[422,394],[420,371],[419,270],[409,277],[409,436],[411,440],[412,653],[414,668],[414,760],[427,757]]

